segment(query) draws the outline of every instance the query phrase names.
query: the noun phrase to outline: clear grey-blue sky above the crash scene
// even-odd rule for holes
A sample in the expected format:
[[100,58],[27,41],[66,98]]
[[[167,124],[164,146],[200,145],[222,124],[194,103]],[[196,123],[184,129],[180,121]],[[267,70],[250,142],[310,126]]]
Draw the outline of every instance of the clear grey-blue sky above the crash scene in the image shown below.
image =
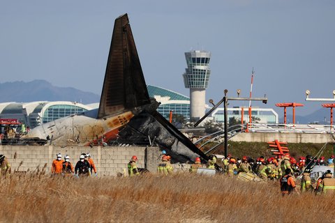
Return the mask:
[[[45,79],[100,95],[114,20],[128,13],[147,84],[184,95],[184,52],[212,54],[207,100],[223,90],[302,102],[335,89],[335,1],[0,0],[0,82]],[[230,102],[230,106],[248,102]],[[261,102],[253,106],[263,107]],[[282,109],[276,109],[283,116]]]

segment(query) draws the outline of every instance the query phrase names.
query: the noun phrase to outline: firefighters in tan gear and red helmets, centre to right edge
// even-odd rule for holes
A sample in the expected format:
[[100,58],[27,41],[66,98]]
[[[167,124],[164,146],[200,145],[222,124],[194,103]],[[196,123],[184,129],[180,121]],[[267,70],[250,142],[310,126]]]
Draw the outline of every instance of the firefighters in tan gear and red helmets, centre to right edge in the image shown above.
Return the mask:
[[[172,174],[173,167],[170,163],[171,157],[163,151],[161,154],[161,162],[158,164],[157,172],[159,174]],[[136,166],[137,157],[134,155],[131,157],[131,161],[128,163],[128,175],[136,176],[140,175],[140,171]],[[258,157],[254,160],[251,157],[242,157],[235,159],[231,155],[223,157],[221,160],[223,167],[223,173],[227,176],[235,176],[240,173],[253,174],[263,180],[278,180],[281,185],[281,193],[283,195],[296,192],[299,194],[296,188],[296,178],[301,176],[301,187],[300,192],[315,192],[315,194],[335,194],[335,178],[333,178],[332,171],[327,170],[322,177],[318,178],[315,183],[312,183],[310,173],[315,165],[322,165],[334,168],[334,155],[329,157],[327,162],[325,157],[312,157],[306,155],[306,157],[299,157],[299,161],[295,160],[295,157],[291,157],[290,154],[277,155],[276,157],[265,158],[263,156]],[[196,157],[194,164],[191,164],[190,172],[197,172],[198,168],[216,169],[218,164],[218,158],[215,155],[211,155],[207,164],[202,164],[200,157]]]

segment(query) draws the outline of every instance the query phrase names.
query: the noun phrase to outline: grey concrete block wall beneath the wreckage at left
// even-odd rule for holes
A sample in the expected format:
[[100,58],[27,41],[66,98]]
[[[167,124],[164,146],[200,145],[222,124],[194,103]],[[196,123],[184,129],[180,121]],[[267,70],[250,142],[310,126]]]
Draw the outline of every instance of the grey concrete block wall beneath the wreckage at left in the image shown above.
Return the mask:
[[[56,159],[57,153],[70,156],[70,162],[75,167],[81,153],[91,153],[91,157],[97,167],[98,176],[116,176],[117,173],[123,173],[127,164],[133,155],[138,158],[137,167],[147,168],[149,171],[156,172],[157,165],[160,162],[161,151],[158,147],[121,147],[121,146],[0,146],[0,154],[7,157],[12,172],[19,171],[40,171],[46,164],[46,172],[51,172],[52,160]],[[127,173],[128,174],[128,173]]]

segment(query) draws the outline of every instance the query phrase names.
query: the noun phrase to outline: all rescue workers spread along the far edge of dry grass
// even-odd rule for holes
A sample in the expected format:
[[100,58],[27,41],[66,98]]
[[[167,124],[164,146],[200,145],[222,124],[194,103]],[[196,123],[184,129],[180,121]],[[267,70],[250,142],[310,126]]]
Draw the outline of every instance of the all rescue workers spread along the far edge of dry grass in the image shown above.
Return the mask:
[[[73,168],[70,157],[65,155],[64,160],[61,159],[61,153],[57,154],[57,159],[52,162],[52,175],[62,176],[97,176],[96,165],[91,159],[90,153],[82,153],[80,159]],[[166,151],[162,151],[159,157],[161,162],[158,164],[158,174],[172,174],[173,166],[171,164],[171,156],[167,155]],[[145,169],[137,168],[137,156],[133,155],[130,162],[128,162],[128,176],[140,175]],[[219,163],[221,162],[221,163]],[[207,164],[202,164],[200,157],[196,157],[194,164],[191,164],[189,171],[191,173],[197,172],[198,168],[216,169],[221,166],[222,173],[229,177],[243,174],[253,174],[263,180],[279,180],[282,194],[290,194],[291,192],[298,192],[296,188],[296,179],[300,176],[300,192],[315,192],[315,194],[335,194],[335,178],[333,178],[332,171],[327,170],[318,178],[318,180],[311,180],[311,170],[315,165],[328,166],[334,169],[334,155],[329,157],[327,162],[325,157],[299,157],[295,160],[290,154],[277,155],[276,157],[265,158],[260,156],[257,159],[243,156],[242,159],[235,159],[231,155],[223,157],[221,160],[215,155],[209,156]],[[10,174],[10,164],[4,155],[0,155],[0,174]]]

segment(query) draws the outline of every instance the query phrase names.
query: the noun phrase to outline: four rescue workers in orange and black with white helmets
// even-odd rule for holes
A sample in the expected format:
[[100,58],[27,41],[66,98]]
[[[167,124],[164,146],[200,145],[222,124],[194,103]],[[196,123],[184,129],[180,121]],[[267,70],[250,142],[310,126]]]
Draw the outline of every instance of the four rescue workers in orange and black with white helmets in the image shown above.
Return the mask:
[[75,164],[70,163],[70,157],[65,155],[64,160],[61,159],[61,153],[57,154],[57,159],[52,161],[51,167],[52,175],[63,175],[63,176],[91,176],[96,173],[96,165],[91,159],[90,153],[82,153],[79,157],[79,161]]

